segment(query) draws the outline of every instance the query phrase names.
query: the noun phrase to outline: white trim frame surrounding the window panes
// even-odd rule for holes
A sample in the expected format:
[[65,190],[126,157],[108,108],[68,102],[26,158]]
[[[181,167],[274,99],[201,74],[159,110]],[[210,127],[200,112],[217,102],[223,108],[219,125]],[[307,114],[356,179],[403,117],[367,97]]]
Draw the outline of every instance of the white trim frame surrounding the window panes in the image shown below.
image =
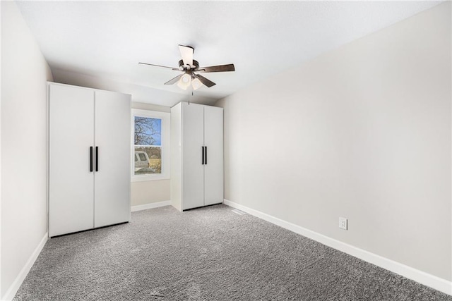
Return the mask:
[[[148,118],[159,118],[162,120],[162,173],[160,174],[150,174],[150,175],[135,175],[135,116],[139,117],[148,117]],[[159,112],[159,111],[148,111],[148,110],[139,110],[132,109],[132,141],[131,141],[131,179],[132,182],[141,182],[147,180],[167,180],[169,179],[169,168],[170,168],[170,137],[171,133],[171,119],[170,114],[167,112]]]

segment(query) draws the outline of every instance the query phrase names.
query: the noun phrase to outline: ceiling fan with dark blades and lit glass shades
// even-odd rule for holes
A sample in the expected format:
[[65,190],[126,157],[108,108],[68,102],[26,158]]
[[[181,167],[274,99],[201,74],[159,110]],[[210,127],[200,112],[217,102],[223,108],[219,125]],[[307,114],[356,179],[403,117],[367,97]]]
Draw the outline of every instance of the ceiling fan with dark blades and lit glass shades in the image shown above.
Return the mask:
[[207,87],[212,87],[215,82],[208,80],[198,73],[208,73],[208,72],[227,72],[234,71],[234,64],[230,63],[227,65],[210,66],[210,67],[199,67],[198,61],[193,59],[194,48],[190,46],[179,45],[179,51],[181,52],[182,60],[179,61],[179,68],[172,68],[167,66],[154,65],[152,63],[139,63],[141,65],[156,66],[162,68],[169,68],[172,70],[183,71],[184,73],[177,75],[175,78],[165,82],[165,85],[173,85],[177,82],[177,86],[183,90],[186,90],[190,85],[194,90],[197,90],[202,85]]

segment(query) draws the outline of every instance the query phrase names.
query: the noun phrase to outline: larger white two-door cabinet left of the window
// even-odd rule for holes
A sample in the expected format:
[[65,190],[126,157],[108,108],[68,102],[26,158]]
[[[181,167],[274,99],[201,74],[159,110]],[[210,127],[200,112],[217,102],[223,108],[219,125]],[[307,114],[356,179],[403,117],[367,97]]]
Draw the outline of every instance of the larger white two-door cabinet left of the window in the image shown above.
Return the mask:
[[49,236],[130,218],[131,96],[48,83]]

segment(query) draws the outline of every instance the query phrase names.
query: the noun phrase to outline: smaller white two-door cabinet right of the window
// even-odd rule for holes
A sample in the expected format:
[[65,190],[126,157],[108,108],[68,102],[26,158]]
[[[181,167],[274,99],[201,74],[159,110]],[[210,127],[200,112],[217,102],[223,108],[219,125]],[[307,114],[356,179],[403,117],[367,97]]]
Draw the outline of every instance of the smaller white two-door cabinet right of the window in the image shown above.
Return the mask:
[[223,109],[181,102],[171,109],[171,199],[179,210],[223,202]]

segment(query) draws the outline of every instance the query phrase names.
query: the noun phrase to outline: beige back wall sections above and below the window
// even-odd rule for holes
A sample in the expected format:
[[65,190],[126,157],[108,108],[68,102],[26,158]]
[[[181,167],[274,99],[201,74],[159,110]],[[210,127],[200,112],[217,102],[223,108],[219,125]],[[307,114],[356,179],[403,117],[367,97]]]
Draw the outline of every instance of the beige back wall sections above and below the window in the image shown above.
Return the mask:
[[[132,109],[159,112],[171,111],[169,106],[157,106],[141,102],[132,102]],[[169,180],[132,182],[132,206],[169,201],[171,199],[169,183]]]

